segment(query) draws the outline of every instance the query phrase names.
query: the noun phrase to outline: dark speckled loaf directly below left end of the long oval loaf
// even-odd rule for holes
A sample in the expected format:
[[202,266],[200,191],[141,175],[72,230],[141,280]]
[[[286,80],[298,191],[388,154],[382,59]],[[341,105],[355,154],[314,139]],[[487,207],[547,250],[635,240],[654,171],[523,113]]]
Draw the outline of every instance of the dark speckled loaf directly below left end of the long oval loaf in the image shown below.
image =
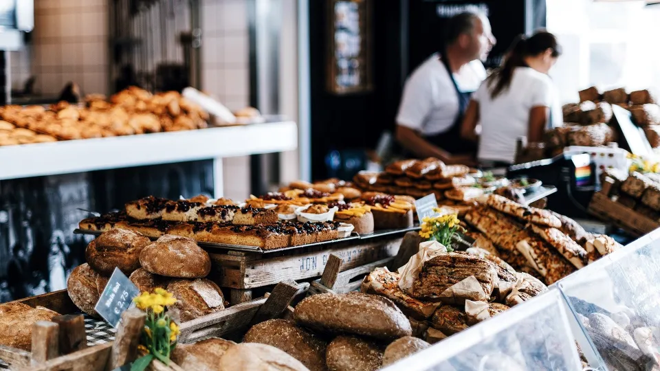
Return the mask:
[[325,341],[287,319],[270,319],[256,324],[245,334],[246,343],[274,346],[298,359],[311,371],[327,371]]

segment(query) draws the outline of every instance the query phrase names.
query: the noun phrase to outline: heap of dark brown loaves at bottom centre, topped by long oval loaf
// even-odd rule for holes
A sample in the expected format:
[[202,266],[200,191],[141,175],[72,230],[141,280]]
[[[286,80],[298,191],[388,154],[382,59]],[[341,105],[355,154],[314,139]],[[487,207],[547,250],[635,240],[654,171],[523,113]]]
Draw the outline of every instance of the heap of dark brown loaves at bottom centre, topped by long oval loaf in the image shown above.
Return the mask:
[[185,370],[355,371],[390,366],[430,346],[384,297],[364,293],[305,298],[291,319],[256,324],[243,343],[211,338],[177,346]]

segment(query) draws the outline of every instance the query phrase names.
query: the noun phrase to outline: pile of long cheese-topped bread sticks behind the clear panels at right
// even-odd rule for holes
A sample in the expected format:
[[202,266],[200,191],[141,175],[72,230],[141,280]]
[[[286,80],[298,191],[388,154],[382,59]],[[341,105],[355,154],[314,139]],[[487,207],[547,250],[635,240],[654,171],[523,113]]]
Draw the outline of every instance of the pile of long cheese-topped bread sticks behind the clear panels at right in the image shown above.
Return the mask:
[[586,232],[571,218],[496,194],[467,212],[465,221],[479,232],[471,234],[476,246],[546,284],[621,247],[609,236]]

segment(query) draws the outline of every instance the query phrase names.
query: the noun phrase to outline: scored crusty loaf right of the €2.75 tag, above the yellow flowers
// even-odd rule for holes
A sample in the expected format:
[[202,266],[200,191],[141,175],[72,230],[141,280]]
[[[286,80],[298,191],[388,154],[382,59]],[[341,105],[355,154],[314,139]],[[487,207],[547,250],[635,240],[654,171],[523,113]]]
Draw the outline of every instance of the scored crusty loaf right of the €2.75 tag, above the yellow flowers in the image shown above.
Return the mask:
[[206,278],[197,280],[173,280],[167,291],[177,298],[172,306],[179,309],[181,322],[190,321],[221,311],[225,308],[225,298],[217,284]]

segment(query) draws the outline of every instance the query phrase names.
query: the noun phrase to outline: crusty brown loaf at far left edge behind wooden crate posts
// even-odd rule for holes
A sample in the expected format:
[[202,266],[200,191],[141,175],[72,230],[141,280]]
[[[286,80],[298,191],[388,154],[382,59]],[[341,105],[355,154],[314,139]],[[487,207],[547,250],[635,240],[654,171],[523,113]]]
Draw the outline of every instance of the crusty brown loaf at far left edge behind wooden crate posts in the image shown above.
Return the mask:
[[23,350],[32,348],[32,324],[50,321],[59,313],[44,308],[10,302],[0,305],[0,345]]

